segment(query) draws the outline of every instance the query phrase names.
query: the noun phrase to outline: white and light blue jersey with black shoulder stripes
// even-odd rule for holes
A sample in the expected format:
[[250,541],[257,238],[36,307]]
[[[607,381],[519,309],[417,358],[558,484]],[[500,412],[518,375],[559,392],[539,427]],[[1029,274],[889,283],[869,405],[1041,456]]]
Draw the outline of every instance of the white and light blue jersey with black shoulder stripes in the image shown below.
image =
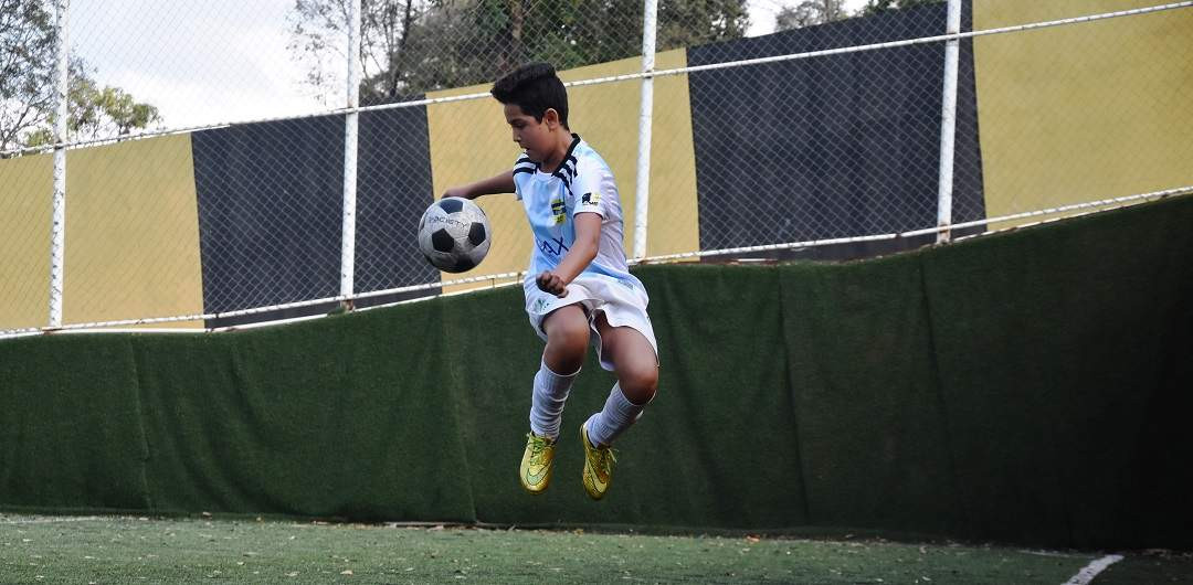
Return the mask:
[[576,239],[575,216],[596,213],[601,217],[596,257],[583,274],[611,276],[641,290],[642,282],[630,274],[625,262],[622,199],[613,172],[580,136],[571,136],[563,164],[555,173],[544,173],[526,156],[514,163],[514,187],[534,234],[527,278],[560,266]]

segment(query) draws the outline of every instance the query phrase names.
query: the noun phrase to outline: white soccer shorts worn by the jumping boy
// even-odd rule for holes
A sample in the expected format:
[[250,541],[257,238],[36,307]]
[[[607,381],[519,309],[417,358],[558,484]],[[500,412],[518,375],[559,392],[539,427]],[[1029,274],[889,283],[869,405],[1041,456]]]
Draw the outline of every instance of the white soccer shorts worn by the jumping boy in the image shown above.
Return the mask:
[[546,341],[546,332],[543,331],[543,319],[551,311],[568,305],[583,305],[588,315],[588,328],[593,335],[591,342],[596,348],[596,357],[600,367],[612,372],[613,365],[601,356],[600,332],[596,331],[596,313],[605,313],[605,319],[612,326],[628,326],[642,334],[650,347],[655,350],[655,361],[659,360],[659,343],[655,342],[655,328],[650,324],[647,315],[647,304],[650,298],[641,286],[633,286],[625,281],[601,274],[583,273],[576,276],[568,285],[568,295],[560,298],[549,292],[540,291],[534,282],[534,275],[523,281],[523,292],[526,294],[526,315],[530,324],[534,328],[543,341]]

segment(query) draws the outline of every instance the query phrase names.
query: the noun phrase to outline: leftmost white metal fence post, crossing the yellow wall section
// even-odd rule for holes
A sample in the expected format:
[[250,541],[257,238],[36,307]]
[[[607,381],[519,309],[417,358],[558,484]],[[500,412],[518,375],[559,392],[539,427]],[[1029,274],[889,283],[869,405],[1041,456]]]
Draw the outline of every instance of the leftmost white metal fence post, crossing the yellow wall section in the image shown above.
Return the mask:
[[50,228],[50,326],[62,326],[63,259],[66,256],[67,219],[67,99],[70,43],[67,41],[70,0],[55,6],[54,35],[56,75],[54,91],[54,224]]

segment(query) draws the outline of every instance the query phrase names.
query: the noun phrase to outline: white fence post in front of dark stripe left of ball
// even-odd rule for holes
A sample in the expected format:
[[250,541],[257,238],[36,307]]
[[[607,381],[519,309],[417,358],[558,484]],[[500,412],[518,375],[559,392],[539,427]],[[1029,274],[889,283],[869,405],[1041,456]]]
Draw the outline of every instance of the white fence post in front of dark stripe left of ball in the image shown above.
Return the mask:
[[[340,294],[351,295],[357,259],[357,136],[360,113],[360,0],[348,8],[348,114],[344,119],[344,220],[340,232]],[[346,300],[345,306],[351,307]]]

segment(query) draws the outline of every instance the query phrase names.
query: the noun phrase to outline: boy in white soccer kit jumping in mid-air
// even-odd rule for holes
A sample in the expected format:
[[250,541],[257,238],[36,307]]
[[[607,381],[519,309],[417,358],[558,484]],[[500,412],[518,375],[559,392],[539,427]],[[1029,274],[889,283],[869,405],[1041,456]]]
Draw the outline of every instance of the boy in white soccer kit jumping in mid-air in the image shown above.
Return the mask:
[[523,291],[534,332],[546,342],[534,375],[519,478],[530,493],[551,480],[563,404],[589,342],[617,374],[605,407],[580,427],[585,491],[600,499],[613,472],[613,440],[642,416],[659,382],[647,291],[622,247],[622,204],[613,173],[568,126],[568,93],[555,69],[531,63],[497,80],[513,139],[525,151],[512,170],[447,189],[474,199],[515,193],[534,234]]

